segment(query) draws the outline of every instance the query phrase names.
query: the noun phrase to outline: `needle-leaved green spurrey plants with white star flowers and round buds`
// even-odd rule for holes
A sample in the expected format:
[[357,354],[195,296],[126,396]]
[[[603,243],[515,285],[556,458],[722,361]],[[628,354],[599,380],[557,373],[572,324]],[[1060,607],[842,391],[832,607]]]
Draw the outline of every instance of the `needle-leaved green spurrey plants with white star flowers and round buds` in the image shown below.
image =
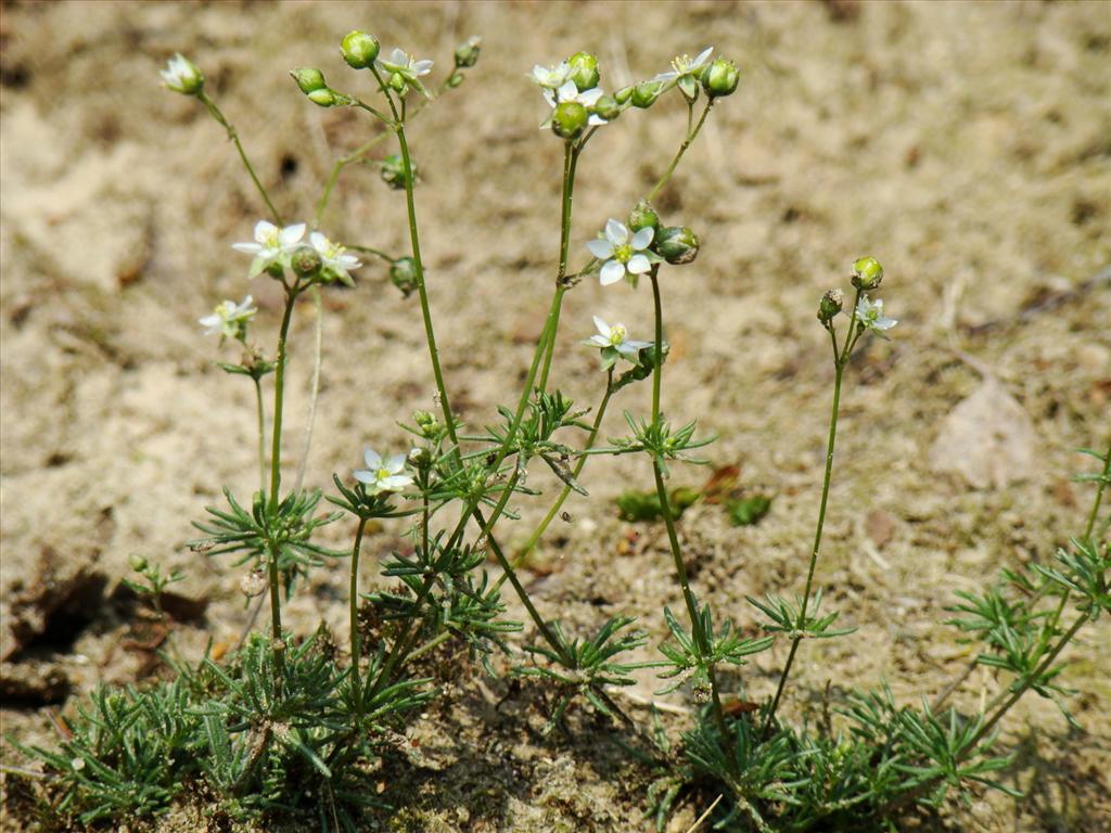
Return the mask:
[[[1085,452],[1098,461],[1098,470],[1081,478],[1094,486],[1093,504],[1068,550],[1029,570],[1005,572],[998,585],[982,593],[959,594],[952,608],[953,624],[982,644],[975,663],[999,670],[1003,678],[999,693],[982,709],[968,713],[945,707],[958,681],[920,706],[897,703],[884,689],[852,693],[834,704],[840,715],[835,724],[790,722],[783,705],[790,701],[795,658],[807,650],[807,641],[844,638],[853,631],[834,626],[839,613],[823,606],[819,568],[850,358],[867,340],[888,338],[898,323],[887,315],[880,297],[883,268],[875,258],[860,258],[852,264],[848,293],[831,289],[819,302],[818,320],[829,337],[834,375],[805,582],[795,594],[750,599],[761,632],[744,634],[695,593],[665,486],[671,466],[704,462],[695,454],[710,440],[697,433],[693,420],[673,422],[662,410],[669,345],[663,338],[661,277],[684,267],[674,279],[681,281],[690,271],[701,240],[688,223],[697,224],[698,218],[664,221],[653,208],[714,107],[737,90],[739,71],[732,61],[713,58],[705,49],[693,59],[677,58],[668,72],[607,93],[598,61],[587,52],[532,70],[531,80],[549,109],[541,124],[546,132],[538,133],[537,141],[563,147],[558,258],[548,277],[551,302],[521,390],[498,410],[500,421],[469,432],[452,408],[440,361],[444,348],[437,340],[421,257],[417,164],[407,128],[438,97],[462,84],[479,51],[478,38],[460,46],[446,77],[433,83],[431,61],[402,49],[383,51],[373,36],[353,31],[341,43],[343,61],[353,71],[340,84],[342,91],[318,69],[294,69],[297,87],[312,103],[359,110],[380,129],[336,162],[312,217],[302,221],[278,212],[238,132],[209,97],[200,69],[179,54],[162,72],[166,86],[196,98],[234,144],[266,218],[254,224],[251,241],[231,248],[249,255],[242,263],[247,278],[272,280],[284,297],[272,348],[252,340],[257,310],[251,295],[222,301],[200,319],[221,343],[232,340],[243,349],[240,363],[221,367],[253,385],[259,489],[249,498],[226,490],[227,504],[209,509],[208,519],[197,524],[204,538],[196,548],[210,556],[232,556],[242,570],[244,593],[262,600],[269,621],[227,658],[206,656],[197,665],[176,662],[172,682],[98,690],[57,750],[32,751],[52,779],[51,812],[86,824],[148,816],[164,811],[187,786],[201,784],[204,795],[237,819],[273,819],[281,812],[314,820],[321,830],[360,830],[372,806],[402,800],[379,799],[368,787],[370,765],[436,696],[436,680],[413,676],[413,662],[452,640],[466,644],[491,674],[498,673],[492,658],[503,654],[508,663],[502,668],[508,664],[509,673],[549,686],[551,726],[565,725],[567,711],[577,701],[632,724],[615,693],[632,683],[630,674],[637,669],[660,669],[662,692],[690,691],[699,707],[680,753],[668,753],[662,734],[660,754],[639,751],[658,775],[647,803],[661,830],[681,795],[708,799],[707,804],[721,796],[712,807],[718,829],[801,831],[894,829],[892,820],[917,806],[941,806],[951,796],[964,797],[984,786],[1009,791],[992,776],[1009,763],[1007,755],[992,752],[1000,721],[1031,690],[1063,710],[1060,654],[1089,622],[1111,611],[1108,520],[1100,515],[1111,481],[1111,450]],[[604,228],[580,242],[573,232],[572,197],[577,165],[591,139],[599,130],[620,129],[640,116],[635,111],[672,94],[687,104],[674,157],[643,199],[613,205]],[[378,164],[384,183],[403,195],[399,202],[408,218],[408,249],[387,253],[363,244],[372,241],[334,242],[318,227],[339,177],[387,142],[396,147]],[[358,290],[356,278],[373,270],[371,262],[363,262],[367,258],[384,261],[398,289],[417,295],[438,412],[412,414],[404,425],[409,436],[399,435],[391,448],[364,449],[363,465],[336,474],[326,494],[302,488],[308,441],[301,473],[292,482],[283,476],[290,323],[307,294],[316,299],[319,317],[321,292],[333,291],[336,284]],[[593,409],[577,407],[553,379],[554,347],[565,323],[564,297],[588,280],[612,287],[607,290],[612,292],[647,289],[654,310],[651,323],[631,329],[593,318],[595,332],[583,343],[599,352],[604,377]],[[582,339],[590,322],[574,322],[572,330]],[[600,432],[611,401],[633,384],[651,385],[651,410],[627,411],[628,434],[603,440]],[[588,462],[617,454],[644,460],[682,595],[682,610],[661,613],[672,638],[660,645],[657,660],[643,659],[647,654],[638,651],[647,636],[632,629],[628,616],[614,616],[593,633],[572,633],[558,620],[546,619],[517,573],[570,493],[588,494]],[[530,466],[538,465],[562,482],[556,495],[527,485]],[[511,558],[503,529],[516,520],[513,498],[548,500],[549,509]],[[329,504],[336,509],[326,511]],[[316,542],[317,530],[346,515],[356,521],[349,549],[334,551]],[[413,546],[411,553],[396,553],[384,563],[382,575],[390,589],[360,595],[360,554],[371,522],[408,526]],[[493,574],[486,566],[491,559],[497,562]],[[294,638],[282,620],[283,601],[297,592],[299,579],[312,569],[338,564],[346,564],[350,574],[347,651],[323,631],[306,640]],[[150,585],[143,592],[157,598],[167,580],[146,560],[137,570]],[[528,626],[506,615],[507,582],[528,613]],[[377,626],[368,628],[368,619]],[[778,684],[769,696],[750,703],[737,672],[775,642],[785,649]],[[731,680],[740,680],[729,690],[722,682],[724,669],[731,670]],[[738,704],[741,707],[734,707]]]

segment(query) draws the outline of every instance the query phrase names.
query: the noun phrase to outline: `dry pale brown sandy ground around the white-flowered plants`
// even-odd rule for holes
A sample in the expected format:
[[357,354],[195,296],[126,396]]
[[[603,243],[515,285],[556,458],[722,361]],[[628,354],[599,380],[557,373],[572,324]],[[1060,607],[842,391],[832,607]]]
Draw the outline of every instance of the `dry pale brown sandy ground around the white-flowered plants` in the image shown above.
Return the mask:
[[[697,590],[749,630],[745,594],[799,590],[832,378],[813,310],[824,289],[847,284],[854,258],[873,253],[901,323],[850,371],[819,568],[860,630],[801,653],[787,705],[813,707],[827,682],[837,692],[885,680],[905,702],[939,691],[969,655],[943,624],[953,591],[1045,559],[1081,531],[1090,496],[1069,482],[1082,465],[1073,449],[1111,439],[1111,291],[1107,272],[1098,278],[1111,263],[1107,3],[4,3],[4,675],[53,673],[76,693],[134,679],[141,656],[120,646],[130,625],[97,601],[133,553],[181,566],[182,592],[209,600],[207,618],[176,635],[187,655],[243,626],[238,572],[184,546],[221,485],[246,494],[257,476],[251,390],[213,367],[238,357],[219,353],[196,319],[250,291],[262,308],[256,332],[270,340],[280,299],[263,280],[248,284],[229,249],[264,210],[233,149],[196,102],[159,88],[157,70],[174,50],[197,60],[280,209],[308,218],[332,160],[373,128],[312,107],[286,70],[317,64],[338,88],[354,84],[337,43],[356,27],[441,66],[468,36],[484,39],[464,86],[411,129],[444,370],[472,425],[516,399],[558,249],[561,149],[536,129],[544,106],[524,73],[578,49],[598,53],[610,89],[708,43],[738,61],[738,94],[715,108],[660,200],[704,239],[697,263],[665,278],[674,349],[664,403],[720,435],[715,464],[739,464],[745,489],[775,500],[751,528],[731,528],[713,506],[683,516]],[[578,257],[678,145],[683,112],[659,109],[622,117],[580,163]],[[344,173],[322,228],[406,251],[403,201],[373,168]],[[402,299],[377,263],[358,277],[356,291],[326,300],[311,485],[349,472],[363,444],[400,449],[396,421],[432,404],[416,298]],[[554,379],[584,404],[603,381],[578,344],[594,313],[647,334],[650,293],[585,282],[569,294]],[[306,423],[312,330],[306,305],[292,337],[289,458]],[[984,373],[1001,391],[989,415],[1010,420],[987,462],[977,434],[954,439],[945,421]],[[608,435],[648,395],[622,394]],[[989,436],[998,428],[978,420]],[[953,473],[962,461],[974,471]],[[674,481],[704,476],[678,468]],[[572,629],[629,613],[654,644],[662,604],[679,602],[662,530],[622,523],[612,504],[627,486],[649,486],[649,470],[600,462],[584,483],[595,500],[569,502],[572,520],[549,534],[530,588]],[[539,475],[532,484],[551,488]],[[510,541],[543,506],[518,509],[524,522],[507,524]],[[350,531],[333,528],[332,540]],[[367,552],[389,552],[400,532],[383,529]],[[92,592],[51,624],[33,600],[74,582]],[[322,616],[346,634],[344,582],[342,569],[318,572],[290,605],[293,626],[308,633]],[[1007,780],[1029,796],[984,796],[955,829],[1111,829],[1108,639],[1103,624],[1069,654],[1087,732],[1044,701],[1024,702],[1004,742],[1019,752]],[[777,650],[750,666],[751,695],[770,691],[782,660]],[[392,829],[648,829],[648,779],[610,742],[619,731],[577,716],[575,737],[542,737],[534,700],[494,712],[501,684],[458,673],[414,729],[423,757],[383,775],[407,806]],[[645,673],[639,691],[653,685]],[[958,702],[994,686],[977,672]],[[74,702],[57,706],[72,713]],[[7,705],[6,732],[49,741],[49,709]],[[18,763],[8,749],[4,759]],[[672,829],[701,809],[685,804]],[[163,827],[199,829],[189,812]]]

